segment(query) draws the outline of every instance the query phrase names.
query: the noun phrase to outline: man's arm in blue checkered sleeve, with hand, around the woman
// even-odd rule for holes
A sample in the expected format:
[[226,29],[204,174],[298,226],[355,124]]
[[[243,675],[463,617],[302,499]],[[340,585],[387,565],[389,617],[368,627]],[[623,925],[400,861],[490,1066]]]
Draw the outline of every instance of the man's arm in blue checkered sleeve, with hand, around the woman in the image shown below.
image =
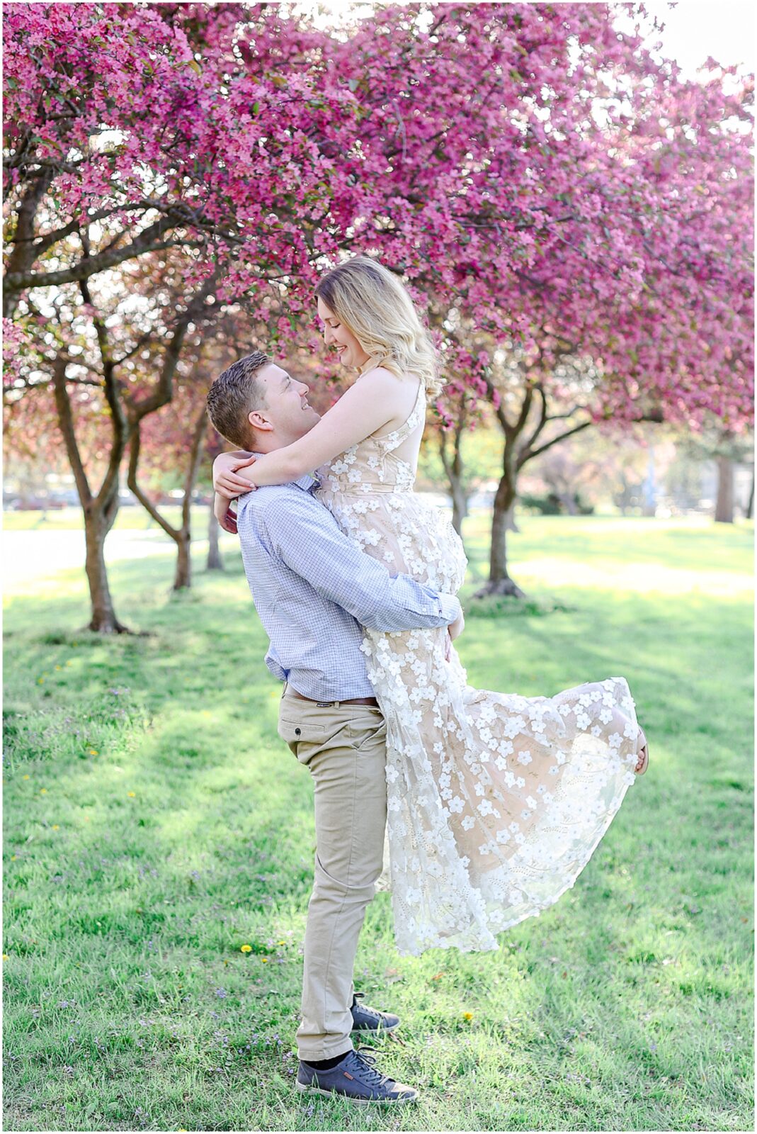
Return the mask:
[[440,594],[408,575],[390,575],[345,535],[325,505],[304,491],[272,500],[263,519],[282,562],[368,629],[446,626],[460,613],[453,594]]

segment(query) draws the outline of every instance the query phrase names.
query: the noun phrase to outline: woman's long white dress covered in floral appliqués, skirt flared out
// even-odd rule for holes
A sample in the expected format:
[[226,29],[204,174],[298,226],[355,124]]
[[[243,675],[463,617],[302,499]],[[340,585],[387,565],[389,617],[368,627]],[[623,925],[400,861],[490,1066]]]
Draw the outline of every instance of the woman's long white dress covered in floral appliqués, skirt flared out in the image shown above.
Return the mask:
[[[412,491],[394,450],[425,417],[352,446],[316,473],[318,498],[366,552],[441,592],[467,560],[452,525]],[[571,887],[635,781],[640,730],[622,677],[556,696],[474,689],[446,631],[365,631],[386,720],[386,845],[402,954],[497,948],[496,934]]]

